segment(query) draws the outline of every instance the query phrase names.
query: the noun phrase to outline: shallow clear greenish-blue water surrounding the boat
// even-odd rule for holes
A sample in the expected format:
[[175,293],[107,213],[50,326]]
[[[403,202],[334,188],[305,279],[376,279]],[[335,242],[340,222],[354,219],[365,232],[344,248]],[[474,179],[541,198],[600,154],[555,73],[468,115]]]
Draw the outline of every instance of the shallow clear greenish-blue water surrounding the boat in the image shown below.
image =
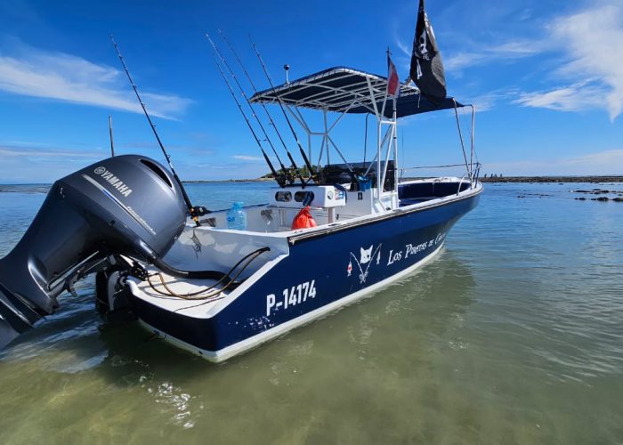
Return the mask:
[[[623,443],[623,203],[592,188],[488,184],[433,263],[222,365],[104,322],[83,282],[0,352],[0,443]],[[2,186],[0,255],[44,191]]]

